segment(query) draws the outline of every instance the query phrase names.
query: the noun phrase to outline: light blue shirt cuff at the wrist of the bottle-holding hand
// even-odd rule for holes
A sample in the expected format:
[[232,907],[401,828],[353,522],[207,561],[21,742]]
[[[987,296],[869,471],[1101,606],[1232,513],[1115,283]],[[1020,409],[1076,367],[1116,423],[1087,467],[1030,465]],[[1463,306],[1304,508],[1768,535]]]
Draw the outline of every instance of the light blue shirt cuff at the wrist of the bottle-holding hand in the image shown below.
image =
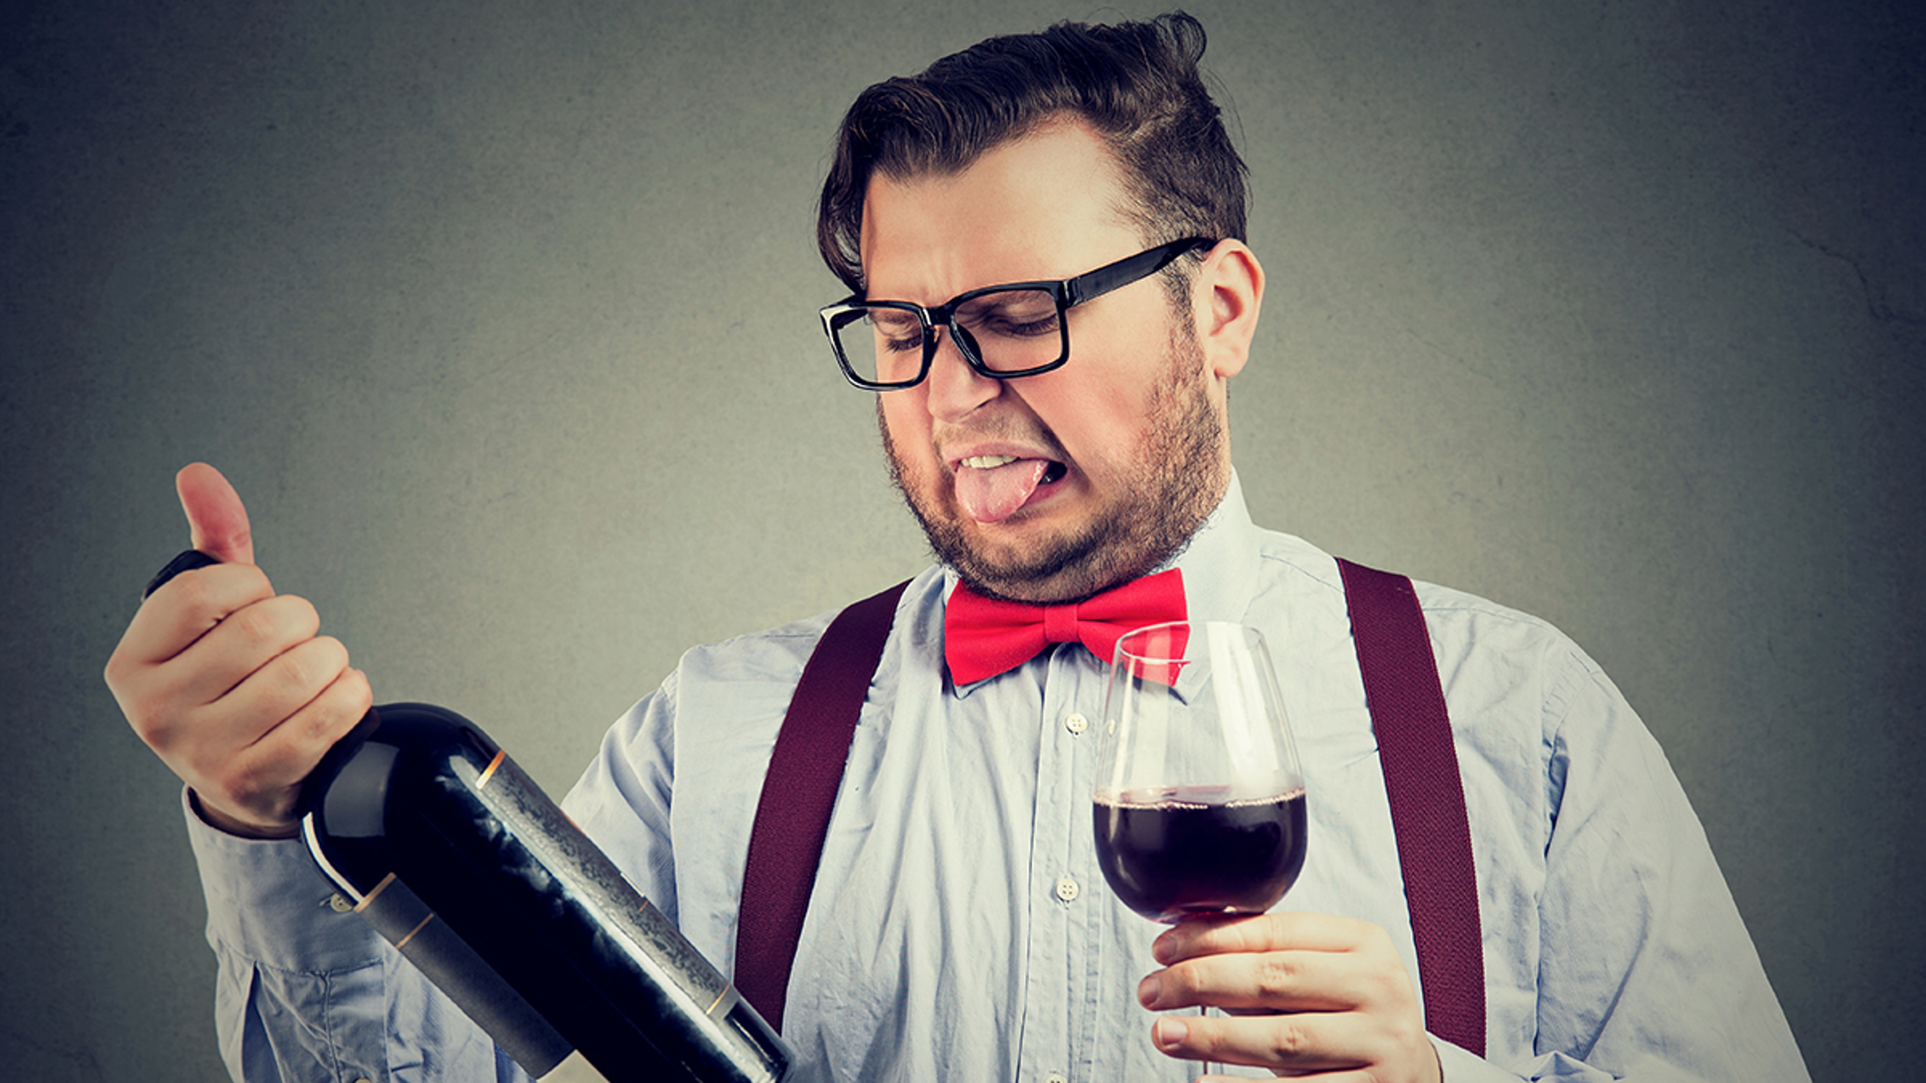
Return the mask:
[[300,838],[241,838],[208,825],[181,788],[187,838],[208,900],[208,942],[256,964],[324,973],[381,958],[381,937],[352,910]]

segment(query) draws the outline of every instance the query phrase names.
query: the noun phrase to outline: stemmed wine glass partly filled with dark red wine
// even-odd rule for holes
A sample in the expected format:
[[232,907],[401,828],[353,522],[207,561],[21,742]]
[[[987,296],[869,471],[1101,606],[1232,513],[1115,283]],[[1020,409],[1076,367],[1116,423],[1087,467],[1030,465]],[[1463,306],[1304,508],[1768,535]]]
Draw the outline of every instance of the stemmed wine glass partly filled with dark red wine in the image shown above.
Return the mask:
[[1152,921],[1263,913],[1304,869],[1304,775],[1263,634],[1175,622],[1117,640],[1096,858]]

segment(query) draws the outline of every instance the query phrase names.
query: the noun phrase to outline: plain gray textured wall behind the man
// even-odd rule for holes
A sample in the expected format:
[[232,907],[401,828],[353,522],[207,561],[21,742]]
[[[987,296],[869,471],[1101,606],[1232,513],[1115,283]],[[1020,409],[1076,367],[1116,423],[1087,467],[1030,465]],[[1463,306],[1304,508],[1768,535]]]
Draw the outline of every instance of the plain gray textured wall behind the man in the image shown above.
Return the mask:
[[[100,682],[220,464],[381,700],[566,786],[693,642],[915,570],[813,254],[863,85],[1084,4],[31,6],[0,37],[0,1064],[214,1079]],[[1208,2],[1271,274],[1250,503],[1545,615],[1822,1081],[1926,1006],[1926,77],[1901,4]]]

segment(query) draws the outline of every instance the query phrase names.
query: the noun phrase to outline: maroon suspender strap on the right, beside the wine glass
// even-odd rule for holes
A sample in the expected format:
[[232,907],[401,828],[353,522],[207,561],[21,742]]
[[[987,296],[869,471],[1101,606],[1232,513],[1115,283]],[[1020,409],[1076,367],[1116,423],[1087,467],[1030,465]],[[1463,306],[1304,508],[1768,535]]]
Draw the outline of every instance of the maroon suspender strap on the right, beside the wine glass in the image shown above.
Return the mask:
[[1412,580],[1339,561],[1398,836],[1425,1029],[1485,1056],[1485,952],[1464,780]]

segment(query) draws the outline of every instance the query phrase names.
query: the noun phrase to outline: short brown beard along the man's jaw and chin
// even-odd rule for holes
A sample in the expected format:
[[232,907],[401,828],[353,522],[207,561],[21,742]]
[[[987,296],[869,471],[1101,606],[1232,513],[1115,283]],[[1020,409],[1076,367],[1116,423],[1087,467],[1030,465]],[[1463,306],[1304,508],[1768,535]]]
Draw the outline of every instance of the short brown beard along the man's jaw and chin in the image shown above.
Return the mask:
[[1142,576],[1181,553],[1223,499],[1229,468],[1223,420],[1211,407],[1204,357],[1186,324],[1171,331],[1165,357],[1163,378],[1150,391],[1138,466],[1113,484],[1107,505],[1090,522],[1003,557],[976,545],[934,486],[919,491],[907,482],[878,397],[890,480],[923,524],[936,559],[988,597],[1065,603]]

